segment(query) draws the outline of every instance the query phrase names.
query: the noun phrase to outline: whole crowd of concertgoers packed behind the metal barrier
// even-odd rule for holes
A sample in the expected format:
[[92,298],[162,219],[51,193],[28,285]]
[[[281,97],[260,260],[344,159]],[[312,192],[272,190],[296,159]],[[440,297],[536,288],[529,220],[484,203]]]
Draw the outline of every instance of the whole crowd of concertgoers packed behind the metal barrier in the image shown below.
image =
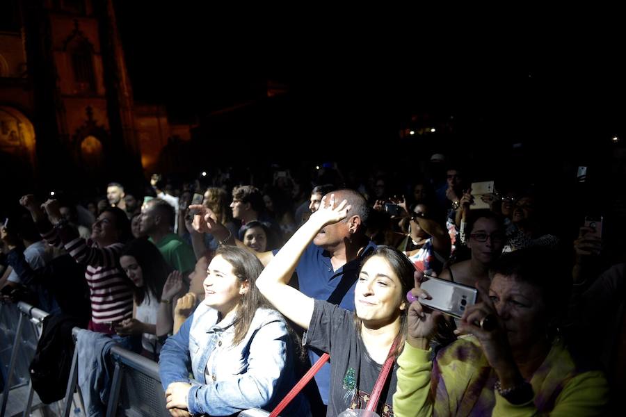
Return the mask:
[[[323,354],[281,415],[616,412],[626,253],[603,238],[610,219],[552,227],[536,184],[478,194],[471,180],[434,154],[401,184],[325,165],[306,182],[24,193],[3,207],[3,300],[158,361],[172,416],[271,410]],[[428,279],[476,302],[428,307]]]

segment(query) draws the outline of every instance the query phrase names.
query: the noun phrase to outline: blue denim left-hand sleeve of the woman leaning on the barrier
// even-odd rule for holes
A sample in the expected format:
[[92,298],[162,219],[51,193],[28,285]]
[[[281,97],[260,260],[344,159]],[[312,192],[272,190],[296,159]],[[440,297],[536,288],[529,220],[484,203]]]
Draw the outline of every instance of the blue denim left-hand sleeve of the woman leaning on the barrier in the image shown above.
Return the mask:
[[168,389],[172,382],[191,383],[189,369],[189,329],[193,322],[193,314],[185,320],[178,332],[168,337],[159,355],[159,375],[163,391]]

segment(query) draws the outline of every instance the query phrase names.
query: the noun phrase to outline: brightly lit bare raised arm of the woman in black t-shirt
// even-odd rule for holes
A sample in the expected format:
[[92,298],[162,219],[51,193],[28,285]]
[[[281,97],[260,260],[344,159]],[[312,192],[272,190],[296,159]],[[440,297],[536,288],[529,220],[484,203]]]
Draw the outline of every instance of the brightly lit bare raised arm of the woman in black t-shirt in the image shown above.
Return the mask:
[[296,265],[306,247],[316,234],[327,224],[337,223],[346,218],[348,202],[344,200],[335,206],[335,195],[330,195],[328,204],[324,197],[319,210],[296,231],[284,244],[274,259],[265,267],[257,279],[259,291],[289,320],[308,329],[313,316],[313,299],[288,285]]

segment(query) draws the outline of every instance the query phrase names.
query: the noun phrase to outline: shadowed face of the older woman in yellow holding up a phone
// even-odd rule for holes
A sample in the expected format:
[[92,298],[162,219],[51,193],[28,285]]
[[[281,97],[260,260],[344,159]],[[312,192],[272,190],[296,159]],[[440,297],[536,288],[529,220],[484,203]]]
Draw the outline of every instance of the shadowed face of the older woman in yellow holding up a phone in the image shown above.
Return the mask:
[[514,277],[496,274],[491,281],[489,298],[514,350],[545,341],[549,317],[538,288]]

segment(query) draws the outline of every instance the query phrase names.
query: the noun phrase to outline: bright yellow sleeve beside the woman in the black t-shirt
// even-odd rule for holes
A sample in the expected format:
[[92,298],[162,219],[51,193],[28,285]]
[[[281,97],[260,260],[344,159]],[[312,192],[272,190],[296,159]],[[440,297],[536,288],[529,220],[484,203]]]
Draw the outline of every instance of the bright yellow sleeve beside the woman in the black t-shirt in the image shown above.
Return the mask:
[[394,393],[396,416],[432,416],[431,369],[433,362],[428,358],[431,350],[422,350],[405,343],[398,357],[396,377],[398,386]]

